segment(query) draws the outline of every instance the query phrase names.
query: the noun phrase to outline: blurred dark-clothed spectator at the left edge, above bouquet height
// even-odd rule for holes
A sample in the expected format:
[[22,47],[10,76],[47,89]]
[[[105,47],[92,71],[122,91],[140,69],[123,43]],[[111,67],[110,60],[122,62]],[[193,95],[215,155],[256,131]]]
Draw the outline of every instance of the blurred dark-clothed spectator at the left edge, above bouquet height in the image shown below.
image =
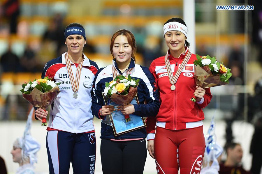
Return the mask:
[[8,46],[7,52],[1,56],[0,63],[2,72],[18,72],[21,67],[19,58],[11,51],[11,45]]

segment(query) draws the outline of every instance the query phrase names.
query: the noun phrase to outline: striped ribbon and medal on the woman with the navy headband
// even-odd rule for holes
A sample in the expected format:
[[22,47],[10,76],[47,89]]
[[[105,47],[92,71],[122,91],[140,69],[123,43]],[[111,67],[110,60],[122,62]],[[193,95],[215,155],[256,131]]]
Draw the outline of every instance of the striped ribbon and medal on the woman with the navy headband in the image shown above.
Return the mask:
[[67,69],[68,76],[69,76],[69,79],[70,79],[70,82],[71,82],[72,90],[74,92],[73,97],[77,98],[77,91],[78,91],[78,88],[79,88],[80,74],[81,74],[82,64],[84,62],[84,59],[82,59],[82,61],[79,63],[79,65],[76,69],[75,79],[74,79],[74,76],[73,76],[68,52],[65,55],[65,59],[66,59],[66,69]]

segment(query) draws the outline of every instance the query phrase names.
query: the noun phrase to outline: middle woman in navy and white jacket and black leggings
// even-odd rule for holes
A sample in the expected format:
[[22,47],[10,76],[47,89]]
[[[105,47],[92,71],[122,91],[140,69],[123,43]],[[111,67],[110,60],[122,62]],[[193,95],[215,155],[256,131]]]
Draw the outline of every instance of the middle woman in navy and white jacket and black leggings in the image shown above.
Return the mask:
[[[119,106],[124,115],[135,114],[140,117],[154,117],[159,110],[159,96],[155,80],[147,67],[135,64],[136,40],[128,30],[122,29],[113,34],[110,51],[113,56],[112,65],[101,68],[94,79],[92,93],[92,112],[103,119],[115,111],[113,106],[105,106],[102,92],[105,82],[113,80],[113,72],[117,75],[140,79],[138,100],[140,104]],[[144,104],[146,103],[146,104]],[[146,152],[145,128],[114,136],[112,126],[101,123],[101,161],[103,173],[143,173]]]

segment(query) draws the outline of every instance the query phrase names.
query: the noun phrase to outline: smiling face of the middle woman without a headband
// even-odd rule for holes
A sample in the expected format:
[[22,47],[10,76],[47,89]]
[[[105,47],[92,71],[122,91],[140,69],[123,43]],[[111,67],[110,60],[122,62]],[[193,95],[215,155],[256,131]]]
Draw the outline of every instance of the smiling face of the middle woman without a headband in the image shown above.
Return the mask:
[[117,63],[126,63],[131,61],[131,54],[133,51],[126,36],[119,35],[115,38],[112,51]]

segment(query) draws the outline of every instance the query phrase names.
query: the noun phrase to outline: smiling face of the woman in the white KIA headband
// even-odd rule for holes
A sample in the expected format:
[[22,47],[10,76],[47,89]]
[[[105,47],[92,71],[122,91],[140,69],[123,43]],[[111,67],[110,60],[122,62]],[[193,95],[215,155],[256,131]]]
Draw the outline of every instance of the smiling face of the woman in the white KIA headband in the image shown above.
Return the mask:
[[171,54],[180,55],[185,51],[186,36],[180,31],[168,31],[165,34],[166,45],[168,46]]

